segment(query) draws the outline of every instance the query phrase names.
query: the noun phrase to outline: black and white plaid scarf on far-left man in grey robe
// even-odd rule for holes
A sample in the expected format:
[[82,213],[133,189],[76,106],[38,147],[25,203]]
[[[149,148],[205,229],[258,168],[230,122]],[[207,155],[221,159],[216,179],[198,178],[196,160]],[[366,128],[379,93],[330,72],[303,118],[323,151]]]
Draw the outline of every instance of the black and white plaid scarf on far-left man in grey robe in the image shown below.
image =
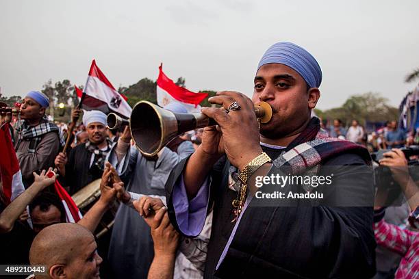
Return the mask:
[[60,138],[61,146],[64,146],[66,142],[64,141],[64,137],[62,137],[60,133],[60,129],[58,129],[57,125],[49,122],[47,118],[42,118],[40,123],[36,126],[29,126],[29,124],[25,120],[21,120],[20,122],[16,123],[15,126],[16,133],[20,134],[18,137],[18,143],[16,145],[16,150],[21,145],[23,140],[30,141],[29,149],[27,150],[28,153],[35,153],[36,147],[41,142],[42,135],[47,133],[57,133],[58,138]]

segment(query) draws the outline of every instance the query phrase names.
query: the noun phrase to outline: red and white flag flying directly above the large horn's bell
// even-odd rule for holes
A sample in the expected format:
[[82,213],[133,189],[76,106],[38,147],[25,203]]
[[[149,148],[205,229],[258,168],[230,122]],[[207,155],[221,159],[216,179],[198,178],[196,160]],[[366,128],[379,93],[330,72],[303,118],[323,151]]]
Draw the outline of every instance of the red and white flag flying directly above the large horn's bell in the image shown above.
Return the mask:
[[176,85],[169,79],[162,70],[163,64],[159,67],[157,78],[157,104],[164,107],[170,103],[181,103],[190,113],[200,112],[199,103],[207,98],[207,93],[194,93],[181,86]]

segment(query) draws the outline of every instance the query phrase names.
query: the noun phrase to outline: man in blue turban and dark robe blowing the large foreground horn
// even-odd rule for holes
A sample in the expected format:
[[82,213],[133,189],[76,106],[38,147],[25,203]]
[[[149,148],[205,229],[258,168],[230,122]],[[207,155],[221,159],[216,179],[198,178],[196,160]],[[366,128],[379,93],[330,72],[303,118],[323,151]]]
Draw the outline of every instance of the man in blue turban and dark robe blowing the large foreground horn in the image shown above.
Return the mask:
[[[218,92],[209,101],[223,107],[202,109],[218,127],[205,128],[201,146],[171,172],[166,200],[186,237],[200,233],[214,204],[205,278],[374,275],[372,200],[364,199],[373,197],[372,174],[345,168],[370,157],[311,118],[321,81],[308,51],[278,42],[257,66],[252,99]],[[259,101],[272,107],[267,123],[255,116]],[[327,166],[337,167],[329,175]],[[299,177],[330,181],[291,182]]]

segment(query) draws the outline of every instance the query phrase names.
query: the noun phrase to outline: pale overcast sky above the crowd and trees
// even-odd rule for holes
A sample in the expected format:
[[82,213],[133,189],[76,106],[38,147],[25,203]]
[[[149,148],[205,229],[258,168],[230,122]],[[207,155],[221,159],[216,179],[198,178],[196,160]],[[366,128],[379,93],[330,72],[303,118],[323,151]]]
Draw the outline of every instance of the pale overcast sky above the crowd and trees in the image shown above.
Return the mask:
[[0,87],[41,90],[48,79],[84,85],[92,59],[112,84],[186,78],[198,90],[251,96],[271,44],[300,44],[323,72],[318,108],[380,92],[398,106],[416,83],[419,1],[0,1]]

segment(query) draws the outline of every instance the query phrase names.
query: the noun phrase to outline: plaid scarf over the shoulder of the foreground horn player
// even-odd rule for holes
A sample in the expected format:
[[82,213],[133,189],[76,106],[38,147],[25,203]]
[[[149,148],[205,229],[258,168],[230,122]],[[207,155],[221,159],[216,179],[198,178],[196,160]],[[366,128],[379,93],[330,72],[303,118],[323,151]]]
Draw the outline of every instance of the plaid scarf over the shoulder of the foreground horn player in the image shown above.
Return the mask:
[[312,168],[316,171],[322,162],[343,152],[355,153],[361,156],[367,165],[371,165],[370,153],[364,146],[345,139],[329,137],[327,131],[320,129],[320,120],[314,117],[273,164],[277,168],[289,165],[294,174],[301,174]]

